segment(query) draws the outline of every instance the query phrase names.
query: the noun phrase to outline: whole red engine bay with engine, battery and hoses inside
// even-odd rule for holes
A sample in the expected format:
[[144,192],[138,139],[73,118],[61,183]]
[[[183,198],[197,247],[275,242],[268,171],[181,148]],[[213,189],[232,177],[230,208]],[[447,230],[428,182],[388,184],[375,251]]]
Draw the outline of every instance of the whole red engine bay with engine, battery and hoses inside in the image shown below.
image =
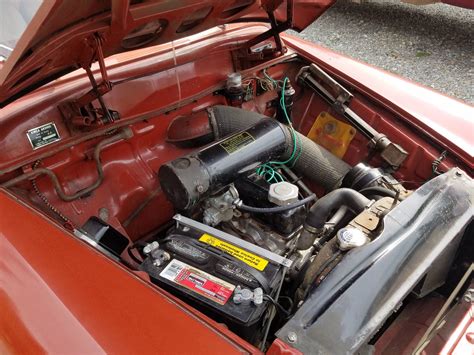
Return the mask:
[[[104,97],[119,124],[95,126],[94,110],[87,124],[64,122],[63,106],[51,120],[70,132],[68,147],[18,164],[0,184],[262,350],[276,336],[295,343],[290,320],[311,316],[311,329],[320,316],[305,307],[324,303],[336,268],[386,242],[392,220],[418,218],[405,208],[422,211],[443,185],[454,186],[448,200],[473,194],[462,162],[339,82],[292,56],[244,74],[229,68],[189,102],[153,115],[121,108],[119,85]],[[456,208],[453,221],[471,211],[470,202]],[[409,292],[430,294],[469,258],[458,252],[469,221],[452,232],[443,272],[425,265]],[[406,239],[409,224],[400,227]]]

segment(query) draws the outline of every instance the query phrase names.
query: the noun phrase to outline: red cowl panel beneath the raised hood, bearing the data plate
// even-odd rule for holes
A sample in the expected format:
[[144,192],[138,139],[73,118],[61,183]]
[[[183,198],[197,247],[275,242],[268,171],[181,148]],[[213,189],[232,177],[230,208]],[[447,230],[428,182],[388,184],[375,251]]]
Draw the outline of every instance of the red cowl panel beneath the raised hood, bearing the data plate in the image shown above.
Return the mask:
[[[190,36],[173,45],[160,45],[133,54],[110,57],[106,63],[111,81],[121,82],[130,77],[136,79],[116,85],[113,94],[105,95],[104,100],[111,108],[119,110],[122,117],[133,120],[134,116],[164,110],[222,82],[226,71],[233,70],[229,50],[239,41],[267,29],[264,25],[229,27]],[[173,69],[176,64],[183,64],[180,73]],[[97,66],[93,69],[98,71]],[[3,152],[0,155],[0,174],[8,170],[7,167],[33,161],[45,151],[51,151],[51,146],[32,151],[28,142],[18,140],[32,127],[55,121],[62,138],[60,144],[73,142],[57,103],[75,98],[89,89],[87,75],[78,70],[0,109],[0,151]],[[156,116],[158,114],[153,117]]]

